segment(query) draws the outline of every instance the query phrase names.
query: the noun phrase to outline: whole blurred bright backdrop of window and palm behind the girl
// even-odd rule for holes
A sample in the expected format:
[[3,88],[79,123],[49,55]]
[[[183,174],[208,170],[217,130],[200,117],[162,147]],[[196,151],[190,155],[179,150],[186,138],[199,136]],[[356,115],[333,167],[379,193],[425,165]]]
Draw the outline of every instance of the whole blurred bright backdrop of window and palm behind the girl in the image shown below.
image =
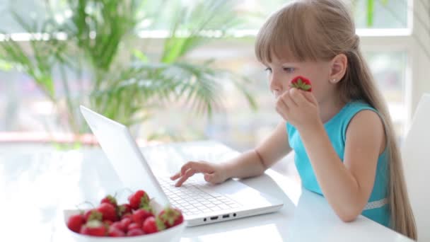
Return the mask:
[[[1,144],[93,143],[80,104],[141,142],[216,139],[244,151],[279,122],[253,44],[289,1],[3,0]],[[426,0],[347,1],[397,137],[430,91]]]

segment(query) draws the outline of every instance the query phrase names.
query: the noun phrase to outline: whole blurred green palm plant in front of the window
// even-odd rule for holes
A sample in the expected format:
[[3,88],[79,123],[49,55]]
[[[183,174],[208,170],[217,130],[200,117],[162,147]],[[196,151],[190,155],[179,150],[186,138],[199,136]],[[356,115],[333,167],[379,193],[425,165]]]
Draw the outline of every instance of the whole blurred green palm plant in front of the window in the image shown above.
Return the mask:
[[[39,23],[14,13],[29,41],[4,33],[0,59],[37,83],[66,117],[66,130],[77,137],[88,132],[80,104],[125,125],[144,122],[168,102],[210,116],[221,105],[219,89],[226,80],[255,108],[244,85],[249,80],[216,69],[212,59],[194,63],[185,58],[213,40],[207,35],[211,30],[226,38],[240,24],[233,6],[226,0],[192,6],[182,1],[66,0],[62,11],[54,13],[47,1],[47,16],[40,16]],[[60,22],[54,17],[59,14]],[[139,38],[144,33],[163,38]]]

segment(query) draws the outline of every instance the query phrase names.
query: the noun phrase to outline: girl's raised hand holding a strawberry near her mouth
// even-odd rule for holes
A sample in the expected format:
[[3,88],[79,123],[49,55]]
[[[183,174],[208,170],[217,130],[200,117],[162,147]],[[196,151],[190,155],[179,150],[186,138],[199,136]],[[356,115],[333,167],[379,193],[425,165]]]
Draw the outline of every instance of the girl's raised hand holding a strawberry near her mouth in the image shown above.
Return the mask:
[[320,122],[318,102],[309,91],[289,89],[277,99],[276,110],[296,129],[315,127]]

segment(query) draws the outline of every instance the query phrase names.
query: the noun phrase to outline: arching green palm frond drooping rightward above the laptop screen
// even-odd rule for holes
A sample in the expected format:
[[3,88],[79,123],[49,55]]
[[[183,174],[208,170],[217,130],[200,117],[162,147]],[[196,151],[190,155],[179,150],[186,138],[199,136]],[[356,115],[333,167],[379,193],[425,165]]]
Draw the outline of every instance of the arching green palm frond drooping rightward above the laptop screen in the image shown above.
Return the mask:
[[117,110],[132,117],[149,108],[145,105],[161,108],[169,102],[211,115],[221,103],[219,74],[196,64],[141,64],[124,70],[112,83],[115,85],[93,93],[93,104],[108,117],[114,117]]

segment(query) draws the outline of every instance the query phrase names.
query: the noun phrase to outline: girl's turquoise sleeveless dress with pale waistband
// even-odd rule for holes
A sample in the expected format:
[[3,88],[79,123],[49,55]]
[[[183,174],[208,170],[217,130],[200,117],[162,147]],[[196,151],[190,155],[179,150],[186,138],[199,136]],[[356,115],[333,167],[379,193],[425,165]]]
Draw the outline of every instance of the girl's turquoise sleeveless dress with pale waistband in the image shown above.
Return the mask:
[[[332,146],[335,149],[339,158],[344,160],[345,141],[347,134],[347,127],[352,117],[359,113],[361,110],[372,110],[378,113],[377,110],[361,101],[353,101],[344,105],[342,110],[339,111],[331,120],[324,124],[325,131],[327,132]],[[378,113],[379,115],[379,113]],[[301,141],[300,134],[297,129],[286,123],[288,132],[289,145],[295,151],[295,159],[297,171],[301,177],[301,182],[304,188],[322,194],[320,185],[318,185],[315,173],[310,164],[308,155],[306,154],[305,147]],[[388,207],[387,192],[388,192],[388,154],[387,149],[383,151],[378,157],[378,165],[376,168],[375,183],[371,192],[371,197],[364,208],[363,214],[365,217],[372,219],[384,226],[390,225],[390,210]]]

